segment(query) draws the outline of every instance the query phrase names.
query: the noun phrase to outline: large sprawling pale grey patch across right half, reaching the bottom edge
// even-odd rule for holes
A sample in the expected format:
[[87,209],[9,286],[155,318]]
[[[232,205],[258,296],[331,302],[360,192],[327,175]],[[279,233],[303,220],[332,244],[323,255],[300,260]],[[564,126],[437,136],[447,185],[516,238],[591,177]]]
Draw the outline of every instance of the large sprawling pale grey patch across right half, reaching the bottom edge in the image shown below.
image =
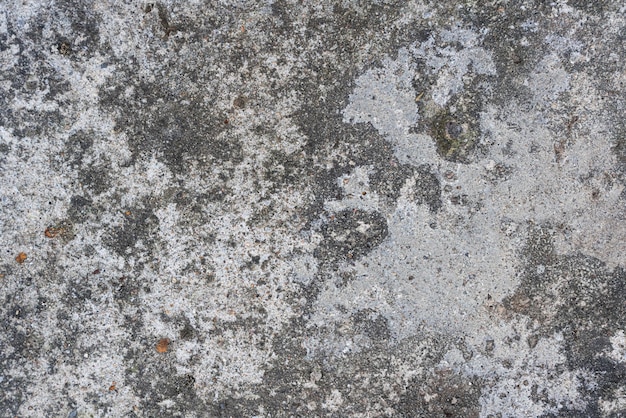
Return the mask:
[[[607,122],[601,108],[592,103],[599,93],[584,75],[569,74],[558,55],[562,51],[556,50],[537,64],[526,81],[536,106],[528,108],[514,98],[505,107],[486,105],[480,114],[486,155],[469,164],[445,161],[434,152],[428,134],[409,132],[420,118],[412,97],[417,93],[410,83],[420,78],[413,60],[425,59],[427,69],[439,72],[436,85],[427,93],[445,106],[464,88],[470,63],[476,73],[493,75],[490,53],[475,46],[478,36],[460,33],[463,39],[456,40],[462,41],[462,51],[438,46],[451,36],[442,34],[414,45],[411,53],[401,50],[396,60],[383,61],[381,68],[357,80],[344,110],[345,121],[371,123],[395,145],[401,162],[437,167],[452,192],[444,191],[443,207],[433,214],[408,199],[411,183],[407,182],[395,210],[386,213],[385,241],[345,267],[355,280],[342,286],[326,282],[311,321],[320,327],[340,324],[354,312],[371,309],[387,318],[397,340],[427,324],[443,333],[472,336],[474,350],[485,339],[501,334],[493,353],[461,362],[465,374],[493,379],[491,389],[481,397],[481,416],[583,410],[580,385],[593,379],[581,375],[582,371],[556,372],[566,361],[558,336],[552,342],[540,340],[530,349],[528,336],[517,334],[515,348],[501,348],[505,335],[510,339],[521,325],[494,322],[485,304],[488,300],[497,304],[519,285],[516,269],[529,222],[564,226],[565,232],[555,238],[561,254],[584,253],[609,267],[623,265],[620,247],[626,241],[626,228],[619,216],[623,186],[613,178],[616,159],[605,134]],[[570,52],[580,47],[554,43],[555,48]],[[541,109],[560,109],[556,102],[563,93],[572,95],[580,107],[566,115],[548,110],[549,124],[561,127],[550,129],[540,123],[546,118]],[[443,176],[446,172],[452,173],[450,179]],[[451,203],[454,191],[466,205]],[[345,199],[328,205],[339,210],[353,204]],[[621,361],[618,340],[619,335],[613,337],[610,355]],[[311,347],[341,355],[341,347],[348,347],[350,341],[329,344],[320,336]],[[559,375],[557,381],[554,373]],[[546,402],[537,401],[537,396]]]

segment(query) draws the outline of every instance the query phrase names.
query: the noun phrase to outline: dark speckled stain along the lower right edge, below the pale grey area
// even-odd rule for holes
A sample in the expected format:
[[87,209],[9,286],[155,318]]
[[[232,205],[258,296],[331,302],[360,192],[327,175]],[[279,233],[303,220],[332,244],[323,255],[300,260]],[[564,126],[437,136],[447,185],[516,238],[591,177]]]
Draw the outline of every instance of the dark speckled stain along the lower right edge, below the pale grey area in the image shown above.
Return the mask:
[[560,333],[568,369],[585,370],[596,381],[595,386],[581,386],[588,405],[584,411],[558,416],[597,416],[600,400],[612,399],[626,376],[626,367],[606,355],[610,337],[626,327],[626,272],[611,272],[592,257],[556,254],[555,233],[546,225],[530,231],[522,283],[504,306],[540,324],[528,341],[531,348],[540,337]]

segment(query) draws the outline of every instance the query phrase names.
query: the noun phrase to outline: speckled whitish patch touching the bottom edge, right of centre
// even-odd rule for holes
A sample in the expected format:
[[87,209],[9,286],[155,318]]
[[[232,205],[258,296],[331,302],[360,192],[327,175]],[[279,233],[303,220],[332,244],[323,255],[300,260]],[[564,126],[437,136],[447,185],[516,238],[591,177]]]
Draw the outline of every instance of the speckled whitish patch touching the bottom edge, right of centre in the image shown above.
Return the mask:
[[[530,325],[530,326],[529,326]],[[527,319],[492,323],[486,336],[468,339],[472,358],[446,355],[444,365],[483,379],[481,416],[538,416],[560,409],[584,410],[583,385],[593,385],[584,370],[569,370],[558,333],[529,344],[532,324]],[[457,350],[458,351],[458,350]]]

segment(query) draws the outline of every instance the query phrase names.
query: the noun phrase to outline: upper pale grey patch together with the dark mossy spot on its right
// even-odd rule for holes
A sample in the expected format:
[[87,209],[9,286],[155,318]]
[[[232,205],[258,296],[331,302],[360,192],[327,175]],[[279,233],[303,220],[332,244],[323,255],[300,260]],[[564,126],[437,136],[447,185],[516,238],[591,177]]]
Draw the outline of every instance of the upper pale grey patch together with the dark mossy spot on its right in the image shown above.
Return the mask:
[[466,90],[477,77],[495,75],[491,54],[478,45],[477,34],[456,28],[401,48],[357,79],[344,122],[370,122],[405,164],[435,161],[433,151],[466,160],[480,137],[477,100]]

